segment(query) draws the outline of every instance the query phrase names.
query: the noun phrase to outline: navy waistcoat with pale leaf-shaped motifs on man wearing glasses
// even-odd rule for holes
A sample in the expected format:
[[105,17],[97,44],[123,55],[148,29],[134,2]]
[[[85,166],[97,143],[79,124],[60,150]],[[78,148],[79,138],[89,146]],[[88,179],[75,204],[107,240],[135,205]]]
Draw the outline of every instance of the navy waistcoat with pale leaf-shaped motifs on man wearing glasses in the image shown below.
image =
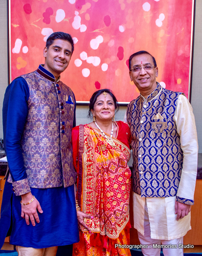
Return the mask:
[[180,94],[158,84],[146,101],[139,96],[128,105],[133,191],[142,197],[171,197],[177,193],[183,153],[173,116]]

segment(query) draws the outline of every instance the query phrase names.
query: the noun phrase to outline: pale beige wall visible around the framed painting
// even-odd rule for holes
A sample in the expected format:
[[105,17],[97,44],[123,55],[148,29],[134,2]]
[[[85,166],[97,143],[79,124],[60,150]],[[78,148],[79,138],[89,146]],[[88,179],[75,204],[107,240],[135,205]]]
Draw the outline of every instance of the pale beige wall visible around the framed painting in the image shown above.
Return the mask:
[[[198,134],[199,153],[202,153],[202,1],[196,0],[196,16],[195,16],[195,37],[194,37],[194,54],[193,54],[193,79],[191,105],[195,115],[196,128]],[[0,45],[1,45],[1,61],[0,61],[0,108],[2,109],[4,93],[8,85],[8,56],[7,56],[7,0],[0,0]],[[120,107],[116,114],[116,120],[123,120],[126,107]],[[88,123],[87,118],[88,107],[77,106],[77,125],[80,123]],[[0,111],[0,138],[3,137],[2,127],[2,110]]]

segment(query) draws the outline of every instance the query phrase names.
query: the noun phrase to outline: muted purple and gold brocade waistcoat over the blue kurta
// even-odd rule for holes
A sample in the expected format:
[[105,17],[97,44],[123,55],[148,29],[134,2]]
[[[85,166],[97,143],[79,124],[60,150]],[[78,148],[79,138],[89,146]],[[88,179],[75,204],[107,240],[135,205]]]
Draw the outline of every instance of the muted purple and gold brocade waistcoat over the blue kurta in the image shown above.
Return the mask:
[[68,187],[76,181],[71,140],[75,98],[67,85],[44,70],[21,76],[30,89],[22,137],[25,168],[30,187],[60,187],[63,182]]

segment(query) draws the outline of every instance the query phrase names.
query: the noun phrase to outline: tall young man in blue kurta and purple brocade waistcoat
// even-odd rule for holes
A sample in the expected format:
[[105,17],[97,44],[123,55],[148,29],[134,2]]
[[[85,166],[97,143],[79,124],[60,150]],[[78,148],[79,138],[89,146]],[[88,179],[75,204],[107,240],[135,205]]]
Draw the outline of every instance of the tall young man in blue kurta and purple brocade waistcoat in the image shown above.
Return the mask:
[[79,240],[71,142],[76,101],[60,81],[73,51],[69,34],[53,33],[44,48],[45,64],[16,78],[5,93],[4,146],[13,185],[11,244],[22,256],[56,255],[58,245]]

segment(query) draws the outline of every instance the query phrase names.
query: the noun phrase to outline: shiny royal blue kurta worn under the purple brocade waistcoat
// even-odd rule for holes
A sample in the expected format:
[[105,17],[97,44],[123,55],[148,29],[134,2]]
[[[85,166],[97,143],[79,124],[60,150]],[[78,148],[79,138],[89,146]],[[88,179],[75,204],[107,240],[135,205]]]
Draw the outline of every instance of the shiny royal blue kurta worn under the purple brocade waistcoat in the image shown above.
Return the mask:
[[[43,68],[43,71],[46,72],[47,70]],[[50,75],[51,73],[47,71],[47,74]],[[24,177],[25,167],[21,138],[28,115],[28,99],[28,84],[24,78],[20,77],[8,86],[3,104],[4,141],[6,142],[7,136],[10,137],[10,141],[13,141],[13,149],[7,147],[6,144],[5,149],[7,155],[10,155],[9,167],[18,172],[18,180],[26,178]],[[13,180],[15,181],[15,178]],[[21,217],[21,196],[16,196],[12,192],[11,184],[5,186],[0,219],[0,248],[10,227],[11,212],[13,220],[11,244],[45,248],[78,242],[79,232],[74,185],[67,188],[64,186],[47,189],[31,188],[31,191],[40,202],[43,210],[42,214],[39,213],[40,223],[36,223],[35,227],[32,226],[31,222],[30,225],[27,225],[25,219]]]

